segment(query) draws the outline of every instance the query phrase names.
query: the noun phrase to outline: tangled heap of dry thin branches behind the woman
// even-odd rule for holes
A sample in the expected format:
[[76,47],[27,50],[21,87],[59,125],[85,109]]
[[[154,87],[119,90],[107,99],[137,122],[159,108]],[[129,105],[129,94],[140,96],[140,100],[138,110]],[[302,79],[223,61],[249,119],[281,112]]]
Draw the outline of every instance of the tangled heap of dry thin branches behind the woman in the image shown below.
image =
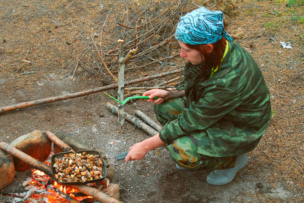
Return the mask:
[[83,66],[79,60],[77,67],[80,64],[87,72],[101,72],[117,82],[115,76],[119,69],[117,39],[124,40],[122,47],[124,56],[127,56],[130,50],[138,49],[136,54],[130,57],[131,65],[125,71],[139,68],[149,71],[162,66],[176,66],[176,63],[170,62],[179,54],[178,43],[174,40],[175,26],[179,18],[188,10],[197,8],[191,2],[191,0],[113,2],[101,26],[95,25],[94,30],[92,28],[87,32],[81,24],[80,37],[92,57],[84,59],[83,56],[88,53],[86,51],[81,57]]

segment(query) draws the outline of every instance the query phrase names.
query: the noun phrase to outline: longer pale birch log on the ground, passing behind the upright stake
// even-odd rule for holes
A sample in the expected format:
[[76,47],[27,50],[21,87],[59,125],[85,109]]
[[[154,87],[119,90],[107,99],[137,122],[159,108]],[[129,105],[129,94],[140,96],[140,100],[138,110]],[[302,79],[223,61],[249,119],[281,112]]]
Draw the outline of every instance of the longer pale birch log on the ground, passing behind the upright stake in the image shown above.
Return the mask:
[[[112,111],[112,113],[118,114],[118,108],[110,103],[107,103],[108,108]],[[147,124],[143,123],[143,121],[141,121],[140,119],[131,116],[130,114],[126,114],[126,120],[130,121],[131,123],[133,123],[136,127],[144,130],[145,132],[147,132],[150,136],[153,136],[155,134],[157,134],[157,131],[155,131],[153,128],[151,128],[150,126],[148,126]]]

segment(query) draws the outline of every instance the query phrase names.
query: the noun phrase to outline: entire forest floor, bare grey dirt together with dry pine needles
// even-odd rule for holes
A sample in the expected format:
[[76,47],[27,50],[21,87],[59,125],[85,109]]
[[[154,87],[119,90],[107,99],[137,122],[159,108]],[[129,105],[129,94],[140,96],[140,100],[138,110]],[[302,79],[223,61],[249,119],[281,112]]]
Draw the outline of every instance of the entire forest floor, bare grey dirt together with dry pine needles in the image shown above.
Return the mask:
[[[142,1],[133,1],[142,2]],[[213,2],[213,1],[212,1]],[[260,65],[271,93],[272,121],[244,169],[223,186],[211,186],[211,171],[179,171],[165,147],[151,150],[140,161],[113,163],[122,202],[302,202],[304,199],[304,31],[303,1],[229,1],[225,8],[228,32]],[[197,1],[198,5],[203,5]],[[212,5],[205,2],[207,8]],[[205,5],[204,4],[204,5]],[[85,59],[73,80],[72,72],[84,46],[84,30],[103,23],[110,1],[0,2],[0,107],[76,93],[114,83],[102,73],[85,71]],[[223,7],[221,7],[223,8]],[[302,20],[301,20],[302,19]],[[94,24],[93,24],[94,23]],[[291,42],[283,48],[280,41]],[[179,57],[177,57],[179,59]],[[91,61],[92,62],[92,61]],[[172,66],[161,70],[174,69]],[[176,68],[177,69],[177,68]],[[160,70],[129,72],[131,79]],[[139,83],[160,84],[178,75]],[[116,95],[117,89],[107,93]],[[103,93],[27,107],[0,114],[0,141],[7,143],[34,130],[73,133],[113,156],[148,138],[117,116]],[[153,106],[140,100],[125,105],[126,113],[142,110],[154,121]],[[113,144],[114,142],[114,144]],[[28,171],[16,171],[1,192],[18,191]]]

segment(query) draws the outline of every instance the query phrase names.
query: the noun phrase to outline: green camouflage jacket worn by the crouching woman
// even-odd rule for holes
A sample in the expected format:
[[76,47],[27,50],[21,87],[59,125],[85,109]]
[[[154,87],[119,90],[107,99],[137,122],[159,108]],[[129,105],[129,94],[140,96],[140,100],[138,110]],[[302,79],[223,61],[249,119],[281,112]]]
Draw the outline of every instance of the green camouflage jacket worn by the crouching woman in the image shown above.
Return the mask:
[[211,78],[186,77],[189,68],[198,68],[186,64],[188,106],[160,130],[163,142],[199,133],[209,144],[200,146],[199,141],[198,153],[212,157],[236,156],[257,146],[271,118],[268,87],[250,54],[236,42],[228,42],[229,51]]

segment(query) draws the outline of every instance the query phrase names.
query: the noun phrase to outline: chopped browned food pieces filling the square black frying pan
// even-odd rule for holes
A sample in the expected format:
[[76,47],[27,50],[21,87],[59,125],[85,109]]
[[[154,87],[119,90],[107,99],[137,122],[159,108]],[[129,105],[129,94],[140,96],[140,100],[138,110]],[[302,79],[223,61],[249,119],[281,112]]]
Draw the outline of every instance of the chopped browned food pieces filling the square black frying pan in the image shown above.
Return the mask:
[[98,155],[69,153],[54,161],[54,176],[58,182],[85,182],[99,179],[103,175],[103,161]]

